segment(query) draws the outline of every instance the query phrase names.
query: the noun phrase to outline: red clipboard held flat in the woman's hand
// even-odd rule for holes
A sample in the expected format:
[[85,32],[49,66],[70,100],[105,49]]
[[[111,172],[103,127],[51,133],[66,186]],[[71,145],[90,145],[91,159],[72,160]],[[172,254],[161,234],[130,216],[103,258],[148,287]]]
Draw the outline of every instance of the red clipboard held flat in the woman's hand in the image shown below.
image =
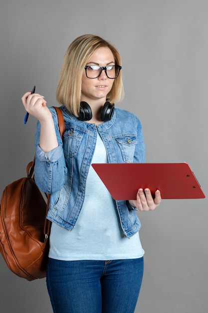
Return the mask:
[[93,163],[92,167],[115,200],[136,199],[139,188],[159,189],[163,199],[205,198],[186,162],[179,163]]

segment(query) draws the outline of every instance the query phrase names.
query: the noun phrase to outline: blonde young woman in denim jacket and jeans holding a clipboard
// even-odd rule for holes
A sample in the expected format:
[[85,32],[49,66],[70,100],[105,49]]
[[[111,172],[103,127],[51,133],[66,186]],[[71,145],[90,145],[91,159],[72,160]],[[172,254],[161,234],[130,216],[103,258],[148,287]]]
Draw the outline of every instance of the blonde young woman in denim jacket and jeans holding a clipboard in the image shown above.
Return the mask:
[[115,201],[91,163],[144,162],[139,119],[115,108],[123,97],[121,57],[108,41],[82,35],[68,47],[57,100],[64,115],[63,140],[54,108],[26,92],[26,111],[38,119],[35,180],[51,193],[52,221],[47,288],[55,313],[133,313],[143,276],[136,210],[155,209],[148,188],[137,199]]

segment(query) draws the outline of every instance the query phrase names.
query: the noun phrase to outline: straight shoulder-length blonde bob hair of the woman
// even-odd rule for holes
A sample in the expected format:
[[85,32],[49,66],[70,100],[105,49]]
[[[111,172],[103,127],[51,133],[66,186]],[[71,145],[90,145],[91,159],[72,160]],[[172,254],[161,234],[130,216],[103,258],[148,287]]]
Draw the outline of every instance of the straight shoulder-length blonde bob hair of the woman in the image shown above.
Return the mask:
[[[56,99],[76,117],[80,110],[83,70],[88,59],[99,47],[108,47],[113,53],[115,64],[121,65],[121,56],[118,50],[110,42],[92,34],[85,34],[76,38],[69,45],[64,55],[56,89]],[[120,71],[107,94],[107,99],[114,103],[121,101],[123,96],[122,73]]]

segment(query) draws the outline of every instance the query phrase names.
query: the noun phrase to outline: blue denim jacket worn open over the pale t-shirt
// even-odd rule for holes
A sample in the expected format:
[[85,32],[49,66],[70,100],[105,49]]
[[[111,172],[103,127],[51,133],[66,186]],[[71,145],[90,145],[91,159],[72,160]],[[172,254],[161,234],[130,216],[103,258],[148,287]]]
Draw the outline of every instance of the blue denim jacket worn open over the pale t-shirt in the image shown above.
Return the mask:
[[[145,146],[141,123],[129,111],[115,108],[111,120],[95,125],[80,121],[64,105],[60,108],[65,122],[63,141],[52,107],[59,145],[50,152],[45,153],[39,147],[40,123],[37,122],[34,173],[38,187],[51,194],[47,218],[71,231],[82,208],[97,131],[105,144],[109,163],[144,162]],[[141,226],[135,207],[128,200],[116,200],[121,228],[127,237]]]

